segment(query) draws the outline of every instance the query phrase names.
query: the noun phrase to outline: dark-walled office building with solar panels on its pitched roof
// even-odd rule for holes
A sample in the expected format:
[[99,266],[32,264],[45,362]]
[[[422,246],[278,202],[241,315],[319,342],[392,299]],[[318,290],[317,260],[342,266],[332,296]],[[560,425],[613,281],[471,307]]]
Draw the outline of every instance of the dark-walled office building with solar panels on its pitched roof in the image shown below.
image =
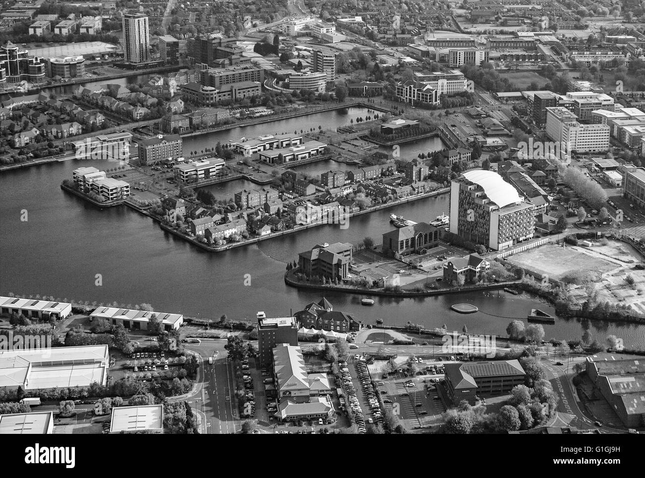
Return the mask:
[[463,400],[475,405],[475,397],[508,394],[524,385],[526,372],[517,360],[446,363],[445,389],[454,405]]

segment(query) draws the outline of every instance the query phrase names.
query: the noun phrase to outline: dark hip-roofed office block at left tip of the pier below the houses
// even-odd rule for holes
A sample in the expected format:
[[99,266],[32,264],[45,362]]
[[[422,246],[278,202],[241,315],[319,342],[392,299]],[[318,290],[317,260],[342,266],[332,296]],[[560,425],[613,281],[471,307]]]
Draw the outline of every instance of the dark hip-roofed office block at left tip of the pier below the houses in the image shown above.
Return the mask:
[[352,264],[353,245],[336,242],[317,244],[298,254],[298,269],[308,278],[324,277],[335,281],[347,278]]

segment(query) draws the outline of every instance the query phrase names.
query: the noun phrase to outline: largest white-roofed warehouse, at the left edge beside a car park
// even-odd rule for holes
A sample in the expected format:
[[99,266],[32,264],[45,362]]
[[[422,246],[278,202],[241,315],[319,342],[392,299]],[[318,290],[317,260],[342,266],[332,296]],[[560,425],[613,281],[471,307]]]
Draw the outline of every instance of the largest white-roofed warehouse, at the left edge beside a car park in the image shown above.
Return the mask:
[[0,387],[15,390],[106,385],[110,356],[107,345],[0,350]]

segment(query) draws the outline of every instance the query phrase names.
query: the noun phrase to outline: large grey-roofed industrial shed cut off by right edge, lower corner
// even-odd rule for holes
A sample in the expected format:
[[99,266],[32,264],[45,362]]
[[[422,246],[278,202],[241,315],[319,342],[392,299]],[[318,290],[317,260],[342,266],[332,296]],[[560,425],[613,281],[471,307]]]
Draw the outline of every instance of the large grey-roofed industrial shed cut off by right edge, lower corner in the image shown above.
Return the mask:
[[642,426],[645,416],[645,361],[641,356],[595,354],[587,357],[586,372],[624,426]]

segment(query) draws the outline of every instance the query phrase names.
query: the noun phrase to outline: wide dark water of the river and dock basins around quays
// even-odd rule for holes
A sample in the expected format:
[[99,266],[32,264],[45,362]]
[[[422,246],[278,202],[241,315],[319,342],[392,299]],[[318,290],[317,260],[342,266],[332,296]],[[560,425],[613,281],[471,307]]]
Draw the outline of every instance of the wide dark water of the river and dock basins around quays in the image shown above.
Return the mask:
[[[283,120],[281,126],[269,129],[293,131],[301,124],[322,124],[326,128],[346,118],[337,111],[321,115],[326,116]],[[252,128],[244,135],[261,133],[262,126]],[[217,137],[237,139],[241,131],[236,133],[217,133]],[[197,137],[186,140],[184,147],[201,148],[197,142],[213,145],[206,137]],[[392,213],[427,221],[449,210],[448,196],[426,198],[351,218],[347,229],[324,225],[211,254],[165,233],[152,219],[131,209],[101,210],[65,193],[59,187],[61,181],[71,178],[72,171],[80,166],[101,169],[113,165],[102,160],[68,160],[0,175],[0,294],[47,294],[63,300],[117,301],[122,305],[146,302],[158,311],[208,318],[221,314],[232,319],[254,318],[257,311],[269,316],[286,315],[321,297],[284,284],[285,262],[297,258],[299,252],[321,242],[356,244],[366,236],[379,243],[381,234],[392,227],[388,222]],[[235,190],[241,189],[239,186],[253,187],[235,184]],[[224,191],[227,186],[217,187]],[[233,189],[226,191],[230,194]],[[27,220],[21,221],[25,212]],[[250,278],[250,285],[244,285],[245,278]],[[461,330],[465,324],[470,332],[497,335],[505,334],[511,318],[526,318],[531,308],[553,312],[544,301],[504,292],[499,296],[497,292],[478,292],[432,298],[375,298],[372,307],[361,306],[358,296],[325,295],[335,309],[354,313],[366,323],[374,323],[377,318],[385,325],[412,321],[432,328],[445,323],[451,330]],[[449,310],[451,304],[459,302],[474,303],[481,312],[461,315]],[[544,325],[546,338],[579,339],[586,329],[600,341],[607,334],[615,334],[624,339],[626,347],[645,347],[642,326],[561,319],[555,325]]]

